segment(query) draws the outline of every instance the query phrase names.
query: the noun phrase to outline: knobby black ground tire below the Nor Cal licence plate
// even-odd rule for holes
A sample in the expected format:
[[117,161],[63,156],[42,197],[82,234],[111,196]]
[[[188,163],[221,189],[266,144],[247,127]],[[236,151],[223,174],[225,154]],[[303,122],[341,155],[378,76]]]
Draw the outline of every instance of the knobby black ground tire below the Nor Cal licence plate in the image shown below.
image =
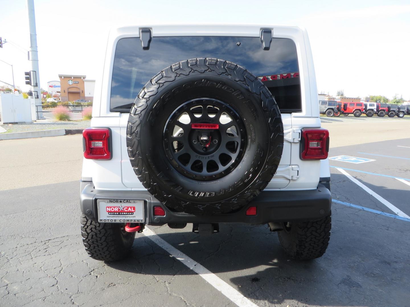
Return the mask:
[[125,224],[98,223],[81,215],[81,235],[85,250],[95,260],[115,261],[128,255],[135,233],[124,230]]

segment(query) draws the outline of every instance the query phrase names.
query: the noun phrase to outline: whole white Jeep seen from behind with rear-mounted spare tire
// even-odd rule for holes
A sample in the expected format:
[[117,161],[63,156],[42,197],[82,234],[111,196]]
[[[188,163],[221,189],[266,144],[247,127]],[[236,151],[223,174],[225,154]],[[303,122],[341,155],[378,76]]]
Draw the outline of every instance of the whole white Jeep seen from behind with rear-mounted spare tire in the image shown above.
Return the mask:
[[168,224],[268,224],[313,259],[330,237],[329,133],[309,39],[298,27],[160,25],[110,32],[85,129],[84,246],[125,257]]

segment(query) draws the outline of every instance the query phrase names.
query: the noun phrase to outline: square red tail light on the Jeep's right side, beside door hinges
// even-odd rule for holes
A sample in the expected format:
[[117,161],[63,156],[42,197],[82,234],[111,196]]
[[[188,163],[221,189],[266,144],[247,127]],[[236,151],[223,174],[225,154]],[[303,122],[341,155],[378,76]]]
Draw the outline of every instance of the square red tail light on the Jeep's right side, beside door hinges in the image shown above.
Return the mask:
[[328,152],[329,131],[326,129],[302,129],[302,160],[323,160],[328,157]]

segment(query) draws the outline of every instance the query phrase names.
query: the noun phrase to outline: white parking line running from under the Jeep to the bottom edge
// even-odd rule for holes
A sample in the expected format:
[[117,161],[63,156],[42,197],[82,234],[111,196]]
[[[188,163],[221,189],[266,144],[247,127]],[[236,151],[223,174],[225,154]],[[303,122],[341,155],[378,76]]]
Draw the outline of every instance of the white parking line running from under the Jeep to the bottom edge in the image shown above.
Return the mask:
[[164,248],[164,250],[170,253],[171,256],[175,257],[175,259],[178,259],[180,262],[185,264],[189,269],[196,272],[200,277],[209,282],[212,287],[220,291],[224,296],[229,298],[239,307],[258,307],[253,302],[248,300],[248,298],[244,297],[241,293],[239,293],[239,291],[237,291],[232,286],[221,280],[221,278],[216,276],[214,273],[212,273],[211,271],[209,271],[204,266],[200,265],[198,262],[191,259],[187,255],[185,255],[181,251],[178,251],[178,249],[173,247],[164,239],[161,239],[161,237],[159,237],[149,228],[145,227],[143,234],[149,239],[151,239],[159,247]]

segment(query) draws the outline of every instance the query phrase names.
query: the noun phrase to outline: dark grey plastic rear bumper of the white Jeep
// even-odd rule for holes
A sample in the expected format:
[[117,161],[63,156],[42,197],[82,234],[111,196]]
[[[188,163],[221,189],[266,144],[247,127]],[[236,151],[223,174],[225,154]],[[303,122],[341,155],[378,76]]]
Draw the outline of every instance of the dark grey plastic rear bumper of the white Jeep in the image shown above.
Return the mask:
[[[81,211],[91,220],[98,221],[97,199],[137,199],[145,205],[145,223],[251,223],[262,224],[285,221],[310,221],[330,214],[332,197],[326,183],[319,183],[315,190],[262,191],[257,198],[235,213],[221,215],[193,215],[172,212],[147,191],[107,191],[94,189],[93,183],[81,181]],[[155,216],[153,207],[161,206],[165,216]],[[257,215],[247,216],[246,209],[257,207]]]

